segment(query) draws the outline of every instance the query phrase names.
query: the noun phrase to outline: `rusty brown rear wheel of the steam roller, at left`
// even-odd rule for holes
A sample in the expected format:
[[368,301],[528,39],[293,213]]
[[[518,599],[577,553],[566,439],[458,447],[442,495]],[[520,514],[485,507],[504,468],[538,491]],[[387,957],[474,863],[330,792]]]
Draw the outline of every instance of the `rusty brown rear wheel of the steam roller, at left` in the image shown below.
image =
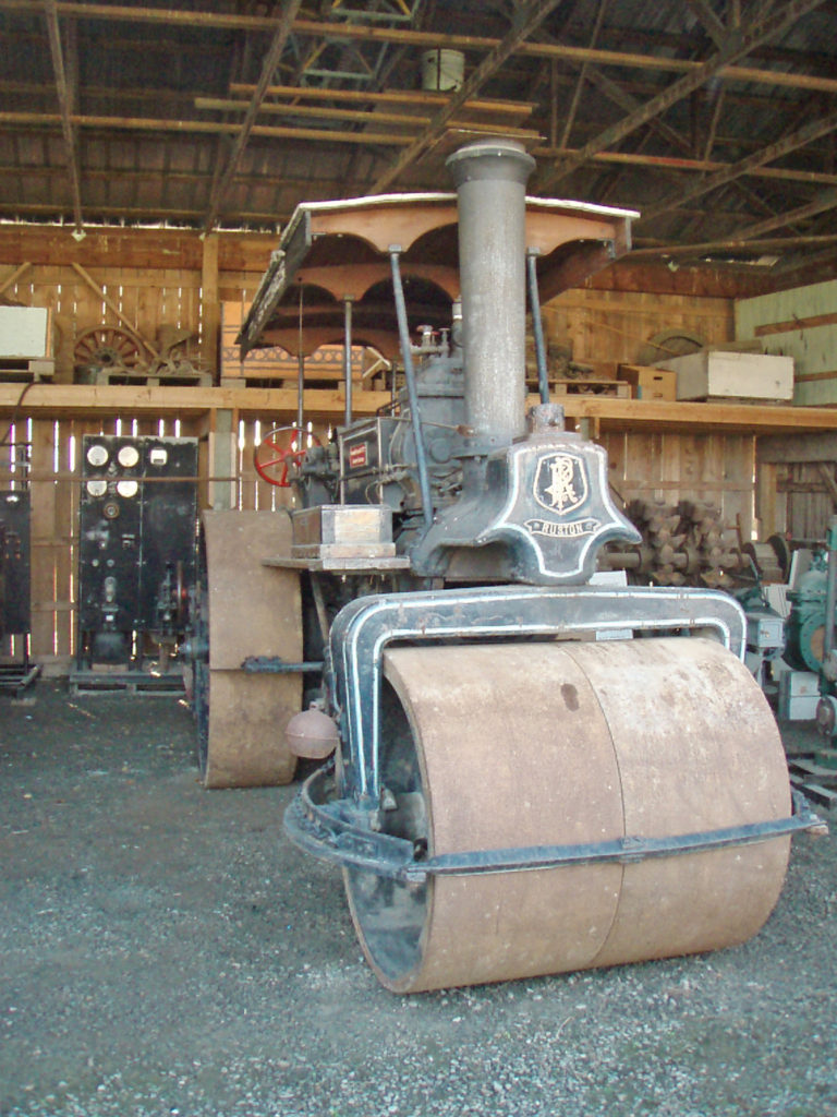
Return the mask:
[[302,657],[299,575],[267,567],[266,555],[290,552],[282,513],[203,515],[209,581],[210,694],[208,787],[289,783],[296,756],[285,728],[299,712],[299,675],[250,675],[248,656]]

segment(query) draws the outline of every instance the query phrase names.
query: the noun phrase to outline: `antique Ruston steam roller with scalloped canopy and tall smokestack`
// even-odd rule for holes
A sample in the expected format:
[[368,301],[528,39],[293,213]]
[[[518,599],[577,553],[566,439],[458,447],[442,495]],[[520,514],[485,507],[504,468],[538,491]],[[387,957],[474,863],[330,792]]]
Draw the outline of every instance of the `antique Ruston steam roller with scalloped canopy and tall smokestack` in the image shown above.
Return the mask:
[[[446,162],[455,193],[298,207],[242,327],[242,352],[299,357],[297,423],[269,440],[295,507],[204,526],[206,782],[325,760],[286,833],[340,867],[398,993],[741,943],[822,823],[791,801],[739,604],[597,572],[639,534],[549,400],[540,298],[626,251],[636,214],[527,198],[533,160],[503,137]],[[305,361],[340,341],[345,421],[300,452]],[[369,418],[356,346],[403,370]]]

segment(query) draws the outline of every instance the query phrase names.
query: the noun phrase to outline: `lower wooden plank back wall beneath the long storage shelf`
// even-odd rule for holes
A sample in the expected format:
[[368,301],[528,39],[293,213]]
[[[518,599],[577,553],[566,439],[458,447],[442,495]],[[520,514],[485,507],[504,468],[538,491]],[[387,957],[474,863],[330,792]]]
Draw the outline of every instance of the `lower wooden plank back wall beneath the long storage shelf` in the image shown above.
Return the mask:
[[[234,431],[234,476],[212,477],[206,438],[202,436],[199,504],[208,507],[210,484],[231,485],[235,507],[279,509],[292,506],[290,489],[263,481],[253,468],[253,450],[273,424],[272,418],[240,420]],[[30,651],[47,670],[62,671],[76,648],[75,601],[78,585],[79,449],[86,433],[198,436],[204,420],[177,422],[171,416],[119,420],[30,420],[16,423],[11,446],[3,449],[0,488],[21,484],[16,455],[29,445],[31,516]],[[325,437],[325,430],[317,433]],[[748,436],[679,433],[604,433],[610,481],[620,497],[708,502],[744,540],[753,526],[754,439]],[[19,658],[20,638],[7,639],[0,653]]]

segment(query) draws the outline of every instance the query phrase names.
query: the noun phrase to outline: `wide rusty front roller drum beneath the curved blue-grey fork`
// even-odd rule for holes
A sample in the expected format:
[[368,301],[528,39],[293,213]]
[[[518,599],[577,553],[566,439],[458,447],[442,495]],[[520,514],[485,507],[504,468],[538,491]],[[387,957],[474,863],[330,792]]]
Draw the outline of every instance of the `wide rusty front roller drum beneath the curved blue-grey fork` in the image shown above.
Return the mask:
[[[712,831],[790,813],[772,714],[696,638],[395,647],[382,782],[429,853]],[[423,821],[423,818],[426,821]],[[364,952],[395,992],[741,943],[777,901],[790,839],[636,862],[395,882],[345,869]]]

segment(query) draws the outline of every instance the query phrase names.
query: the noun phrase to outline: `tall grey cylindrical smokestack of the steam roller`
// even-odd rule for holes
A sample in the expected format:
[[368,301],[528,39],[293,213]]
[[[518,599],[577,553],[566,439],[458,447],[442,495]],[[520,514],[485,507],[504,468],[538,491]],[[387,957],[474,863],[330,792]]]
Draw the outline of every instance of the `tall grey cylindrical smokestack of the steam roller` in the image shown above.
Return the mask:
[[510,140],[479,140],[448,169],[459,195],[465,414],[477,445],[526,433],[526,181],[535,160]]

